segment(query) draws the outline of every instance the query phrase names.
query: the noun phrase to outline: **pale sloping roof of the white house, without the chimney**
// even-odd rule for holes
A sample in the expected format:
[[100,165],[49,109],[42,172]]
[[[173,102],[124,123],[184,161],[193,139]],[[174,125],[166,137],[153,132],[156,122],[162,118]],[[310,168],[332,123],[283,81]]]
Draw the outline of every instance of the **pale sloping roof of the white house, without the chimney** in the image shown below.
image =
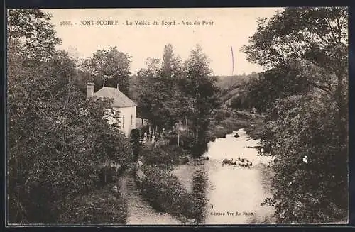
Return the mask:
[[112,106],[114,107],[129,107],[137,105],[117,88],[102,87],[102,89],[99,89],[99,91],[94,93],[94,96],[114,99],[114,102],[112,103]]

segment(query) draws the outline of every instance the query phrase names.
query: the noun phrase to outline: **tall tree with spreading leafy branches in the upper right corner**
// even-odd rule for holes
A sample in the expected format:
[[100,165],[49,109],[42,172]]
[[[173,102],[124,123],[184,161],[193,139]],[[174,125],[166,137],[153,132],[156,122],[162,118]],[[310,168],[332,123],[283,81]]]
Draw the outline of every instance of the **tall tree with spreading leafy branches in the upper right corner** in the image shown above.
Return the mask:
[[[309,62],[337,79],[339,143],[347,143],[348,14],[345,7],[287,8],[270,21],[260,21],[251,45],[242,50],[248,60],[288,70]],[[327,77],[332,77],[327,75]],[[327,82],[311,82],[327,89]],[[323,84],[324,83],[324,84]],[[346,150],[346,147],[341,148]]]

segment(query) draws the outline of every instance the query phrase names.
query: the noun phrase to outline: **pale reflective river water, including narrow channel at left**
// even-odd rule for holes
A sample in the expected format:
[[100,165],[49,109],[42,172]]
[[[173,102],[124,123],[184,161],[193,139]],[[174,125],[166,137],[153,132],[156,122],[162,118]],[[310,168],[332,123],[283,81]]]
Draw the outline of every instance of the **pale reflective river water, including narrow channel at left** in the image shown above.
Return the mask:
[[[238,133],[239,138],[234,138]],[[203,165],[179,165],[173,174],[180,179],[187,191],[199,198],[202,209],[196,222],[199,224],[250,224],[274,223],[275,209],[261,206],[261,202],[271,197],[268,163],[272,158],[258,156],[258,140],[253,140],[242,129],[234,131],[226,138],[218,138],[208,144],[203,156],[209,160]],[[222,167],[224,158],[246,158],[253,165],[248,167]],[[129,224],[178,224],[170,214],[151,209],[136,190],[132,179],[128,180]]]

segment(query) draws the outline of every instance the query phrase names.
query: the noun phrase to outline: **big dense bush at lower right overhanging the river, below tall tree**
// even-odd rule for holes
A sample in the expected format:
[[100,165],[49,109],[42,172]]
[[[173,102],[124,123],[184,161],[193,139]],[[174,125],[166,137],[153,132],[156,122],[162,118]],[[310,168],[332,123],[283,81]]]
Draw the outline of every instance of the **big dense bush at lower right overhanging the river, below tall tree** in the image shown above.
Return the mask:
[[266,200],[275,206],[278,223],[346,221],[348,155],[339,144],[334,104],[290,96],[273,110],[277,118],[268,122],[262,143],[279,160],[273,165],[276,191]]

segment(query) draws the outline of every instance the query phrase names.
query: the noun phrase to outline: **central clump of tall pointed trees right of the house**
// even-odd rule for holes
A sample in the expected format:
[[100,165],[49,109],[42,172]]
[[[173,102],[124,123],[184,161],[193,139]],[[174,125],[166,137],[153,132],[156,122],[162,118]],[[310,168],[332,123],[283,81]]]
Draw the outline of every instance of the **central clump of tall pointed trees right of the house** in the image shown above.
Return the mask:
[[[138,114],[148,118],[152,128],[176,130],[182,124],[192,132],[192,153],[201,155],[206,128],[212,111],[219,105],[216,78],[199,45],[182,65],[165,46],[163,62],[148,59],[147,68],[138,72]],[[178,132],[180,133],[180,132]]]

